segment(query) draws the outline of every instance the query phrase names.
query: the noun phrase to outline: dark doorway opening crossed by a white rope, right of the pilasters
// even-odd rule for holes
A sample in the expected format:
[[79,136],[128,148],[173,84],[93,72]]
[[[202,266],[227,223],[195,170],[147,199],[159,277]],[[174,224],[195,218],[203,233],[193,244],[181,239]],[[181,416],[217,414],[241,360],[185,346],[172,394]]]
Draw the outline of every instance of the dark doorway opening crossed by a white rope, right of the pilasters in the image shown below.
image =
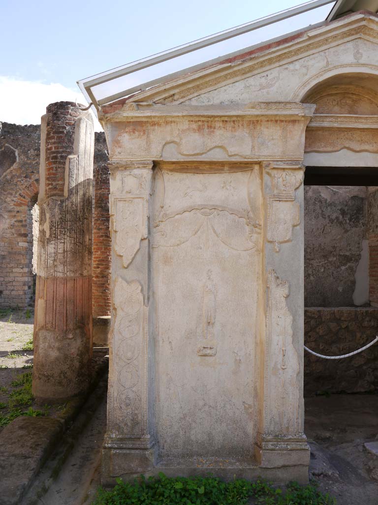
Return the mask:
[[[347,354],[378,334],[377,173],[305,170],[304,344],[322,355]],[[347,486],[350,503],[378,489],[377,457],[365,446],[378,435],[377,393],[378,344],[342,360],[304,351],[312,476],[336,494]]]

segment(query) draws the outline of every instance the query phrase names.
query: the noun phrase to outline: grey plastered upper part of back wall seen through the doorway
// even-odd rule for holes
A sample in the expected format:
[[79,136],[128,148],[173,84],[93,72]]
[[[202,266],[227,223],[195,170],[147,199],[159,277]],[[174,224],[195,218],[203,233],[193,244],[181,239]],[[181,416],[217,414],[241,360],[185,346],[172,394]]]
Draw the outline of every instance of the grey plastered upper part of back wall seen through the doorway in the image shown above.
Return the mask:
[[305,307],[368,304],[366,203],[365,186],[305,186]]

